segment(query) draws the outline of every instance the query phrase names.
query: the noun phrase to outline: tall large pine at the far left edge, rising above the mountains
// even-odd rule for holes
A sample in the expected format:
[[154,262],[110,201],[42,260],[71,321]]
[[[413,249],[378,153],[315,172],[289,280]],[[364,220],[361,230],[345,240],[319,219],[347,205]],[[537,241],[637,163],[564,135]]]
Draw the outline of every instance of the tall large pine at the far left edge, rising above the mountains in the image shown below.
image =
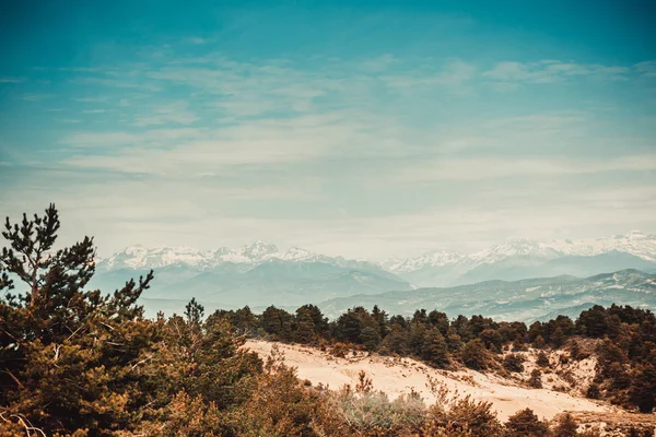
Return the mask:
[[0,404],[49,435],[104,435],[129,423],[140,399],[130,395],[139,383],[131,373],[152,346],[153,326],[137,299],[153,275],[110,295],[85,291],[93,239],[55,250],[59,227],[54,204],[44,216],[5,221],[2,287],[14,286],[13,274],[26,291],[0,298]]

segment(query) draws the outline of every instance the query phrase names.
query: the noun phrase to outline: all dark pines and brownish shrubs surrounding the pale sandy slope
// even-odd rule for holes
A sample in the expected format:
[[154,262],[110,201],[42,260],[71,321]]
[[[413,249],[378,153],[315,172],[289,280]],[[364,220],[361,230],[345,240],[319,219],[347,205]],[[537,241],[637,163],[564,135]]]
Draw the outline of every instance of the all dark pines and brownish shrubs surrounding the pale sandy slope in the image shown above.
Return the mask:
[[[328,322],[314,306],[295,315],[271,307],[255,316],[244,308],[204,319],[192,300],[184,317],[149,320],[137,302],[152,272],[113,294],[87,291],[93,239],[55,251],[58,229],[51,205],[15,225],[8,218],[2,233],[9,247],[0,255],[0,436],[596,435],[578,433],[570,415],[546,423],[530,410],[502,424],[490,404],[452,398],[438,386],[433,405],[417,393],[390,401],[364,374],[355,387],[319,391],[280,357],[262,362],[239,349],[245,335],[508,371],[522,363],[501,359],[504,347],[567,344],[578,359],[586,352],[572,340],[599,339],[590,395],[654,408],[656,323],[648,311],[595,307],[576,321],[527,328],[482,317],[450,321],[423,310],[388,318],[377,308],[354,308]],[[25,292],[12,294],[19,284]]]

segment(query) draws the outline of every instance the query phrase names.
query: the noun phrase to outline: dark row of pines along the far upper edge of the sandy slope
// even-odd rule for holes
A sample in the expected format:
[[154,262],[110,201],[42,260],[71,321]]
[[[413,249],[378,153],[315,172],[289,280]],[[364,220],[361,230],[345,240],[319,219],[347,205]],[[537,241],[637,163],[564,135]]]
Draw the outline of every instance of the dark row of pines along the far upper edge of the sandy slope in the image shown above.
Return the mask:
[[[504,368],[522,371],[523,358],[504,351],[519,352],[566,349],[571,359],[595,353],[596,376],[587,395],[607,399],[625,408],[651,412],[656,405],[656,317],[649,310],[616,306],[594,306],[576,320],[559,316],[547,322],[494,321],[482,316],[458,316],[424,309],[412,317],[391,316],[377,306],[348,309],[328,321],[320,309],[304,305],[290,314],[271,306],[261,315],[248,307],[218,310],[211,320],[224,320],[234,332],[281,342],[329,347],[337,355],[350,350],[365,350],[383,355],[411,356],[437,368],[465,365],[477,370]],[[585,339],[596,339],[596,347],[582,347]],[[544,354],[538,364],[549,367]],[[566,359],[566,358],[565,358]],[[539,373],[531,385],[540,387]]]

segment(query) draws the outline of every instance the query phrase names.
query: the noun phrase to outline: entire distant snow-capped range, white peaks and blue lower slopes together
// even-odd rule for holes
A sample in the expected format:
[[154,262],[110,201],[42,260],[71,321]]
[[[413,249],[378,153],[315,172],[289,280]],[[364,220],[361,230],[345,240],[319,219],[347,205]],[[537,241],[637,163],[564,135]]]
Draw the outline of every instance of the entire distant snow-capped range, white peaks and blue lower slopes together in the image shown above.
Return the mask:
[[[179,311],[190,297],[202,302],[208,310],[244,305],[293,308],[326,302],[331,302],[327,307],[332,307],[335,302],[345,302],[339,299],[352,296],[408,293],[425,287],[453,291],[459,285],[489,281],[588,277],[626,269],[656,273],[656,236],[633,231],[590,240],[514,239],[473,253],[440,249],[380,263],[330,257],[297,247],[280,251],[265,241],[215,250],[131,246],[98,259],[90,285],[118,288],[126,279],[145,274],[150,269],[155,270],[156,279],[143,300],[153,310]],[[471,298],[477,299],[472,303],[482,302],[475,295]],[[492,307],[489,310],[496,311]]]

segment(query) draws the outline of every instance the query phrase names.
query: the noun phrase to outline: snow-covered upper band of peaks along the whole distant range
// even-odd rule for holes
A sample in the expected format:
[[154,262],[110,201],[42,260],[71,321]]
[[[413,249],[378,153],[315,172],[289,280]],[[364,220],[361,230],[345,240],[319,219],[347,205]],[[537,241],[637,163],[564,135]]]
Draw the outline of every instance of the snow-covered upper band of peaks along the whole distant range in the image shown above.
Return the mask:
[[181,264],[195,269],[212,269],[224,263],[244,267],[257,265],[270,260],[289,262],[325,262],[339,267],[384,269],[393,273],[413,273],[425,271],[445,271],[460,273],[481,265],[512,264],[531,265],[562,257],[595,257],[598,255],[622,252],[656,262],[656,236],[631,231],[596,239],[552,240],[549,243],[516,238],[501,245],[473,253],[459,253],[448,249],[437,249],[415,258],[391,258],[376,264],[342,257],[328,257],[308,250],[292,247],[281,252],[276,245],[255,241],[238,249],[221,247],[215,250],[198,250],[191,247],[130,246],[112,257],[98,260],[99,269],[156,269],[165,265]]

